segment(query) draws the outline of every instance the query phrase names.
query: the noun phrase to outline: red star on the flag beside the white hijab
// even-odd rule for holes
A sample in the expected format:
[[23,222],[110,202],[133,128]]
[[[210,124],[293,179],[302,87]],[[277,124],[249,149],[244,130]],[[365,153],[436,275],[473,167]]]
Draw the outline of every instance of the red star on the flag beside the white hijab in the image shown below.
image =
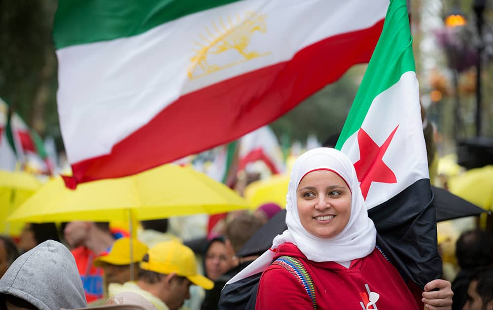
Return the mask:
[[361,193],[365,200],[372,182],[397,183],[394,173],[382,160],[397,127],[399,125],[395,127],[380,147],[363,128],[359,128],[358,144],[360,159],[354,163],[354,169],[356,170],[358,181],[361,182]]

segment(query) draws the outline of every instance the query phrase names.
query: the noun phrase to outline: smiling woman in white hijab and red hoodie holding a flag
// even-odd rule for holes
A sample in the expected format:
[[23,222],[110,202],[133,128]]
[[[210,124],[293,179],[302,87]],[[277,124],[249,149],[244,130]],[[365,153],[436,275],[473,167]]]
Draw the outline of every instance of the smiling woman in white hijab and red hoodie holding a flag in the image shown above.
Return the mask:
[[256,309],[450,309],[450,282],[428,283],[427,290],[442,289],[422,300],[376,248],[375,226],[343,153],[318,148],[296,160],[286,211],[287,230],[247,271],[274,260],[260,278]]

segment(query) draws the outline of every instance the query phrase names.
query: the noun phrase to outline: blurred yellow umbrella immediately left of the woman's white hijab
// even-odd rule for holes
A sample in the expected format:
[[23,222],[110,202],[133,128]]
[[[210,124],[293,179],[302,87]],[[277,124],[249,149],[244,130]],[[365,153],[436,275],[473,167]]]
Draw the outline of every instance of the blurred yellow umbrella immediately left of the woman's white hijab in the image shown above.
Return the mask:
[[276,203],[282,208],[286,206],[287,185],[289,176],[276,174],[269,179],[250,183],[245,187],[245,199],[254,208],[266,203]]

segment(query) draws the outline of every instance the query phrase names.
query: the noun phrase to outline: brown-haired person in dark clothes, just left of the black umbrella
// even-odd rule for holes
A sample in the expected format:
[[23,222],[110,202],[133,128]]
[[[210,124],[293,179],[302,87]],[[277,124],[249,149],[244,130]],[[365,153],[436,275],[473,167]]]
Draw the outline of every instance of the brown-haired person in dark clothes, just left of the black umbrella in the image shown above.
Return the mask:
[[249,257],[236,257],[236,253],[242,248],[257,230],[262,227],[262,222],[253,215],[243,214],[235,217],[228,224],[224,232],[225,246],[228,256],[232,257],[229,270],[214,280],[214,287],[206,291],[206,298],[202,303],[202,310],[215,310],[219,303],[221,290],[226,282],[237,273],[246,268],[258,255]]

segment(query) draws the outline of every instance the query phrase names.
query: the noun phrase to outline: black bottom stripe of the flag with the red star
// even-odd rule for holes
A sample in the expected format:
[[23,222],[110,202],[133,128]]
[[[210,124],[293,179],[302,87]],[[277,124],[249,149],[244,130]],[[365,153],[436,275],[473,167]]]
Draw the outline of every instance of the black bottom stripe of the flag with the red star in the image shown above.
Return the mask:
[[377,244],[407,282],[421,288],[442,276],[436,214],[429,179],[416,181],[393,198],[368,210]]

